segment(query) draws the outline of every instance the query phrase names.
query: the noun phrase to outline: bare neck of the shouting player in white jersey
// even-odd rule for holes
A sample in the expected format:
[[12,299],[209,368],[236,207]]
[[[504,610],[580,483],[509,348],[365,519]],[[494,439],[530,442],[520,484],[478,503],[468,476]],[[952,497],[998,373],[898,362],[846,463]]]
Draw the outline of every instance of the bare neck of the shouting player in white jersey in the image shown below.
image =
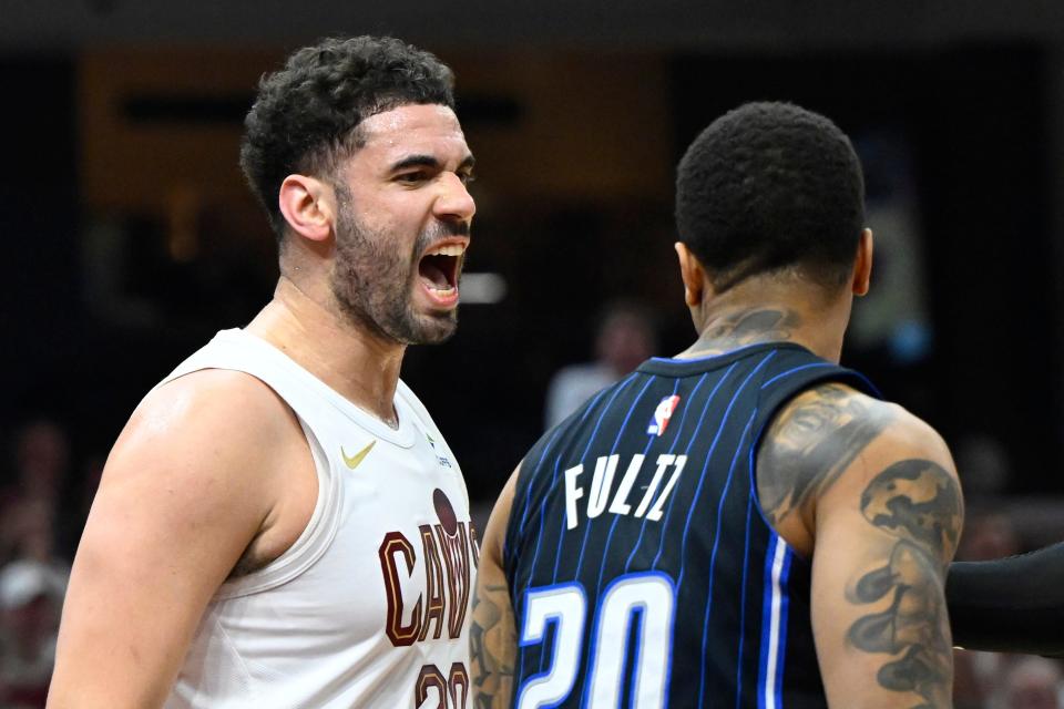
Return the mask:
[[266,340],[356,405],[398,424],[393,400],[406,346],[346,318],[282,276],[247,331]]

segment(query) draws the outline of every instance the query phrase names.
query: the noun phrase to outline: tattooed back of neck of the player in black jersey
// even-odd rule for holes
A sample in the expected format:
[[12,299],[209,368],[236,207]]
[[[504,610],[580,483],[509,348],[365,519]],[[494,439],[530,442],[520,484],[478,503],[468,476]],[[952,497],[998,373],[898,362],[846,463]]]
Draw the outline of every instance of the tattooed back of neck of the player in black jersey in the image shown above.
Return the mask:
[[818,357],[839,361],[849,298],[826,300],[816,292],[795,292],[771,284],[755,288],[739,286],[737,292],[729,290],[693,308],[698,340],[679,357],[708,357],[760,342],[794,342]]

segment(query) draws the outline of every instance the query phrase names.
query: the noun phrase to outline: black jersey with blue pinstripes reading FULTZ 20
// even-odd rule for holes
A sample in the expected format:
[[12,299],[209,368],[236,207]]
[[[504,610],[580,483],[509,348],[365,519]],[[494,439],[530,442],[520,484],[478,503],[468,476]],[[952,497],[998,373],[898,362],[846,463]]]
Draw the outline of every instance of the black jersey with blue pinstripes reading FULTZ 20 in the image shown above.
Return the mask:
[[755,452],[828,380],[874,392],[791,343],[652,359],[544,434],[503,552],[514,707],[827,706],[810,566],[763,515]]

